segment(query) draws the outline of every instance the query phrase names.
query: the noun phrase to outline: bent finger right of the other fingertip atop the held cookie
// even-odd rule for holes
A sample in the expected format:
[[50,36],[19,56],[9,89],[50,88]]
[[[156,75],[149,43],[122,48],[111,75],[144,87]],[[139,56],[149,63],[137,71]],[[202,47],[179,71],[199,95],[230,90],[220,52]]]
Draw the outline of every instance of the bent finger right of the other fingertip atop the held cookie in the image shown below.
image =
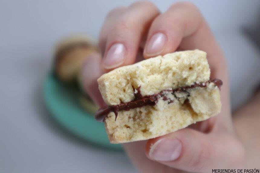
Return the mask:
[[[145,58],[180,50],[200,49],[208,53],[210,66],[223,61],[209,27],[197,7],[189,2],[173,4],[151,24]],[[219,63],[217,63],[219,64]]]

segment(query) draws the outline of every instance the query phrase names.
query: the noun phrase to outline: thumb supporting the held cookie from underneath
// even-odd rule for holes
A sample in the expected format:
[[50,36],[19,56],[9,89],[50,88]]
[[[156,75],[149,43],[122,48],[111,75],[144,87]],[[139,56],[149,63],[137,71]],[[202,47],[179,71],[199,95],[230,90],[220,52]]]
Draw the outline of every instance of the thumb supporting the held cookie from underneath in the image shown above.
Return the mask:
[[204,134],[188,128],[149,140],[146,155],[164,165],[191,172],[238,168],[244,161],[244,149],[232,136]]

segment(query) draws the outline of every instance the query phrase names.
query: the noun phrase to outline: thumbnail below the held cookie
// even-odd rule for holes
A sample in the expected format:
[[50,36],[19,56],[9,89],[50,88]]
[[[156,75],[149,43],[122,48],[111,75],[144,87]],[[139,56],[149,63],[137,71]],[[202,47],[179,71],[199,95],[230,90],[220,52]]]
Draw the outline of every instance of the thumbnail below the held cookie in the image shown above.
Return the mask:
[[163,138],[151,146],[149,156],[158,161],[173,161],[180,157],[181,150],[179,139]]

